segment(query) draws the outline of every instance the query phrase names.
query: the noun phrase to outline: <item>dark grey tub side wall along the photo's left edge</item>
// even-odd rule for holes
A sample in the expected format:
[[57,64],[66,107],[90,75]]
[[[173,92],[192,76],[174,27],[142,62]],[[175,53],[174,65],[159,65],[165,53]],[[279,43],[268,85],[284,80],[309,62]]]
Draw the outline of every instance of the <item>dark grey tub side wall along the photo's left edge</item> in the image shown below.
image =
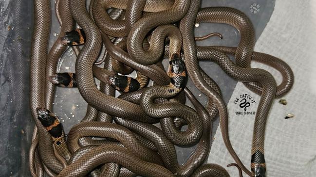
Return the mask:
[[30,177],[33,0],[3,0],[0,7],[0,176]]

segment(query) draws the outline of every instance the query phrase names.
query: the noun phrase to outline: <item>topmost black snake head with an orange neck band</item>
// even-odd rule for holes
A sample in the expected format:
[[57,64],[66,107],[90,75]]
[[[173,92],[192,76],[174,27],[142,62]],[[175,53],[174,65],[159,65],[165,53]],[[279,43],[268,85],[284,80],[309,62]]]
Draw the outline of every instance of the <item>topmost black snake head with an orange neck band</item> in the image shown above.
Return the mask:
[[61,37],[63,45],[77,46],[84,44],[86,35],[82,29],[76,29],[71,32],[65,32],[65,35]]

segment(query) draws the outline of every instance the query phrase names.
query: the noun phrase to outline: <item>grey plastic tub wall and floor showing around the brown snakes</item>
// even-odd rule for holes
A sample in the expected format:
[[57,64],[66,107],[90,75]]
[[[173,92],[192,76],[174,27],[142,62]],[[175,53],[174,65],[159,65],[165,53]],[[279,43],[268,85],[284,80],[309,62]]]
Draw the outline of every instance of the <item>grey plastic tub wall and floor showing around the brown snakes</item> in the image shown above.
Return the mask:
[[[228,6],[241,10],[253,22],[256,37],[260,36],[274,9],[275,0],[202,0],[202,7]],[[54,12],[55,0],[52,0]],[[0,0],[0,176],[29,177],[28,149],[33,132],[29,111],[29,59],[33,23],[32,0]],[[50,47],[59,37],[56,16],[52,16]],[[220,32],[223,39],[213,37],[197,42],[199,46],[237,46],[238,31],[224,24],[200,24],[196,36]],[[233,59],[233,58],[232,58]],[[60,72],[74,72],[75,56],[70,48],[61,58]],[[201,62],[201,67],[220,86],[227,102],[236,81],[229,78],[216,64]],[[205,104],[207,99],[188,80],[187,87]],[[190,103],[187,101],[187,104]],[[77,89],[57,88],[54,101],[56,113],[67,133],[86,113],[87,104]],[[213,124],[213,133],[218,120]],[[179,163],[183,163],[194,147],[177,147]]]

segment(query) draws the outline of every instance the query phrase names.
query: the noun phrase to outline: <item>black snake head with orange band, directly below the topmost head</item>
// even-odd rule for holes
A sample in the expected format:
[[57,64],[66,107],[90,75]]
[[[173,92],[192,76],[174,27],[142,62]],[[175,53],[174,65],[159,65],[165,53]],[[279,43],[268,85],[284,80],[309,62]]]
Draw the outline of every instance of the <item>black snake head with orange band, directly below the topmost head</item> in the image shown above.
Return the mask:
[[56,73],[49,77],[49,81],[61,87],[74,87],[76,86],[74,73]]

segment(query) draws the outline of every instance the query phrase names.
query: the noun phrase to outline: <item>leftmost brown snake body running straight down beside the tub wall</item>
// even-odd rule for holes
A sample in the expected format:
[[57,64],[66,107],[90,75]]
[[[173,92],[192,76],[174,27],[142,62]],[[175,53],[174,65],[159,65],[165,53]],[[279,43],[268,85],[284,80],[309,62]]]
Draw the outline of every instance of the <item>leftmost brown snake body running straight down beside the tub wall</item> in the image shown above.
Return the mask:
[[[41,125],[37,119],[37,108],[45,108],[45,71],[47,61],[48,44],[42,43],[48,41],[50,32],[50,18],[51,13],[47,10],[50,9],[50,1],[35,1],[35,25],[32,37],[31,46],[31,113],[37,126],[35,135],[39,136],[41,142],[38,144],[38,153],[41,161],[48,166],[53,172],[59,173],[62,170],[62,164],[56,159],[53,149],[53,140],[48,131]],[[31,172],[37,174],[36,172]]]

